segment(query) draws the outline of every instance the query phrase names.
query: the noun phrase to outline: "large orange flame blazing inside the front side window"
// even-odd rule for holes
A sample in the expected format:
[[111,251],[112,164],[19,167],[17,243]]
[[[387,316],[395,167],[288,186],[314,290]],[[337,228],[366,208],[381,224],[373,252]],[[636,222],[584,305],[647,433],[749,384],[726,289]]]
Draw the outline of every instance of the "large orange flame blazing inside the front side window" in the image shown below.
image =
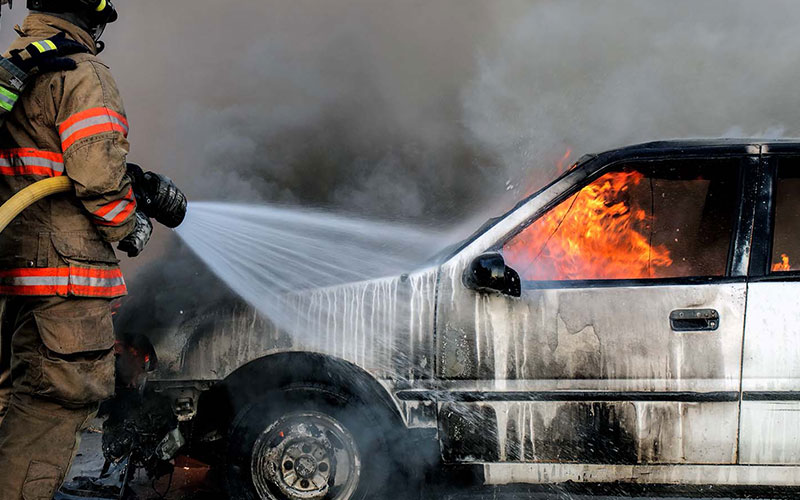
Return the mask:
[[643,179],[616,172],[586,186],[505,245],[509,265],[531,281],[659,277],[670,252],[651,245],[651,217],[629,193]]

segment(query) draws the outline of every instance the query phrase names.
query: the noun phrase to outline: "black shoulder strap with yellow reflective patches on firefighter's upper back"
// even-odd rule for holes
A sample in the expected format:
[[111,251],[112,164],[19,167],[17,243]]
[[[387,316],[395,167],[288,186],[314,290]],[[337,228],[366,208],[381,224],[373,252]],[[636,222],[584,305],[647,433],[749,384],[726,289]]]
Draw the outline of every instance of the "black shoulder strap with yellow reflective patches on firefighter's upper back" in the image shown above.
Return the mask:
[[14,66],[28,75],[68,71],[77,67],[75,61],[64,56],[89,52],[89,49],[70,40],[61,32],[55,36],[28,44],[23,49],[11,51],[8,58]]

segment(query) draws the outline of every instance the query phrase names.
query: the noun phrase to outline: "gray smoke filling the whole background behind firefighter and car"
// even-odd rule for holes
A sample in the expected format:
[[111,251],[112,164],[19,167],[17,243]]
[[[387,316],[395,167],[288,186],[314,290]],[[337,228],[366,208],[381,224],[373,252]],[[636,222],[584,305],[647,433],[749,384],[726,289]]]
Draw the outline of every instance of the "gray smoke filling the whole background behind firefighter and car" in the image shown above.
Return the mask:
[[[800,135],[793,0],[118,3],[131,159],[193,200],[469,227],[567,149]],[[187,259],[161,229],[132,293]]]

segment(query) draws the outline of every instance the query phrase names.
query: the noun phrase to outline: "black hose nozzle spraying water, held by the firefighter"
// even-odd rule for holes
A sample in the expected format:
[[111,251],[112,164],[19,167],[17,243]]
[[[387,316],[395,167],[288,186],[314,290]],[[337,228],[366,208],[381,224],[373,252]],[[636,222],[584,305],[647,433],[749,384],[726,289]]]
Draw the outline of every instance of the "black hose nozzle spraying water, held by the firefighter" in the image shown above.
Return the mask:
[[172,179],[155,172],[144,172],[135,163],[128,163],[128,177],[133,182],[138,210],[167,227],[180,226],[186,217],[186,195]]

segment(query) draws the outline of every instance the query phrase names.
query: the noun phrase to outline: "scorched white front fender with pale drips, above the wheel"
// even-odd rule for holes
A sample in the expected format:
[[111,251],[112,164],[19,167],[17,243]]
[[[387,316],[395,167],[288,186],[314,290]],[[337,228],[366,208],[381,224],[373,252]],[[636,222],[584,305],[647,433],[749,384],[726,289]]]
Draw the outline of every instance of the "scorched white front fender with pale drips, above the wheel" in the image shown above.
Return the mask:
[[159,335],[160,380],[221,380],[246,363],[278,352],[315,352],[351,362],[375,378],[414,381],[433,376],[437,270],[351,283],[286,297],[304,315],[288,325],[249,307],[183,324]]

